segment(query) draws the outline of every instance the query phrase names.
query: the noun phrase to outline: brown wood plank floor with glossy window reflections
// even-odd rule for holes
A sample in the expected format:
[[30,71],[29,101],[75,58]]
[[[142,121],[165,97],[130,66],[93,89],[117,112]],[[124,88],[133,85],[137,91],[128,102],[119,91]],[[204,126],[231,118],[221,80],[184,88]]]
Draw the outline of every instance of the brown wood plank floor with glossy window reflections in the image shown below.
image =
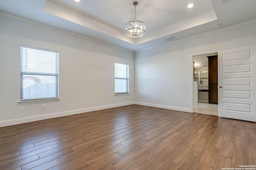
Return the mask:
[[256,123],[130,105],[0,128],[1,170],[256,165]]

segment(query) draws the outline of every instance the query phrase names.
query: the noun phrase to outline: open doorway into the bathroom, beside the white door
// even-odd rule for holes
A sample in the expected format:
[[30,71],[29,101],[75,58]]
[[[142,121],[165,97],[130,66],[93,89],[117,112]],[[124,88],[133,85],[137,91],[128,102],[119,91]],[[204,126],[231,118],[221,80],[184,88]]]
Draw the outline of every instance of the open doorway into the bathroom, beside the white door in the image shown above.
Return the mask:
[[[209,56],[216,56],[218,53],[210,53],[205,55],[196,55],[193,56],[193,65],[194,65],[194,90],[193,99],[197,99],[198,104],[194,105],[195,113],[204,113],[210,115],[218,115],[218,97],[217,102],[211,102],[212,100],[212,91],[209,86],[212,86],[212,78],[210,77],[209,81]],[[210,63],[211,65],[211,63]],[[210,66],[211,68],[211,66]],[[218,70],[214,69],[210,71],[211,75],[218,75]],[[196,83],[195,83],[196,82]],[[210,83],[210,84],[209,84]],[[210,94],[209,94],[210,90]],[[218,90],[218,89],[217,89]],[[217,91],[218,94],[218,91]],[[197,97],[195,96],[197,95]],[[210,96],[209,96],[210,95]]]

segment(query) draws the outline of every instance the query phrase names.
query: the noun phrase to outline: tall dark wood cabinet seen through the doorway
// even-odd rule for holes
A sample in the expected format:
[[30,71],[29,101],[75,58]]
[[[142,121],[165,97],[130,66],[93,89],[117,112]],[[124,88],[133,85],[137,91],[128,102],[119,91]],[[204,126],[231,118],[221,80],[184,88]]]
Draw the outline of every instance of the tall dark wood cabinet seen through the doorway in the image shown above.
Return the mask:
[[208,102],[218,104],[218,55],[208,56]]

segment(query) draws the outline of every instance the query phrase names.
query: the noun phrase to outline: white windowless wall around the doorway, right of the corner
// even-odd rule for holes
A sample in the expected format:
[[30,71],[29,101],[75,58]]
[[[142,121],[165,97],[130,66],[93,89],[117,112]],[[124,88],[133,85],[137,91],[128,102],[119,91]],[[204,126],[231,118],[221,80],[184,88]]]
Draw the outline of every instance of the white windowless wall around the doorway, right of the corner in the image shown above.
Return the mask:
[[[240,25],[135,54],[138,104],[192,112],[192,56],[256,44],[256,23]],[[156,98],[161,98],[160,102]]]

